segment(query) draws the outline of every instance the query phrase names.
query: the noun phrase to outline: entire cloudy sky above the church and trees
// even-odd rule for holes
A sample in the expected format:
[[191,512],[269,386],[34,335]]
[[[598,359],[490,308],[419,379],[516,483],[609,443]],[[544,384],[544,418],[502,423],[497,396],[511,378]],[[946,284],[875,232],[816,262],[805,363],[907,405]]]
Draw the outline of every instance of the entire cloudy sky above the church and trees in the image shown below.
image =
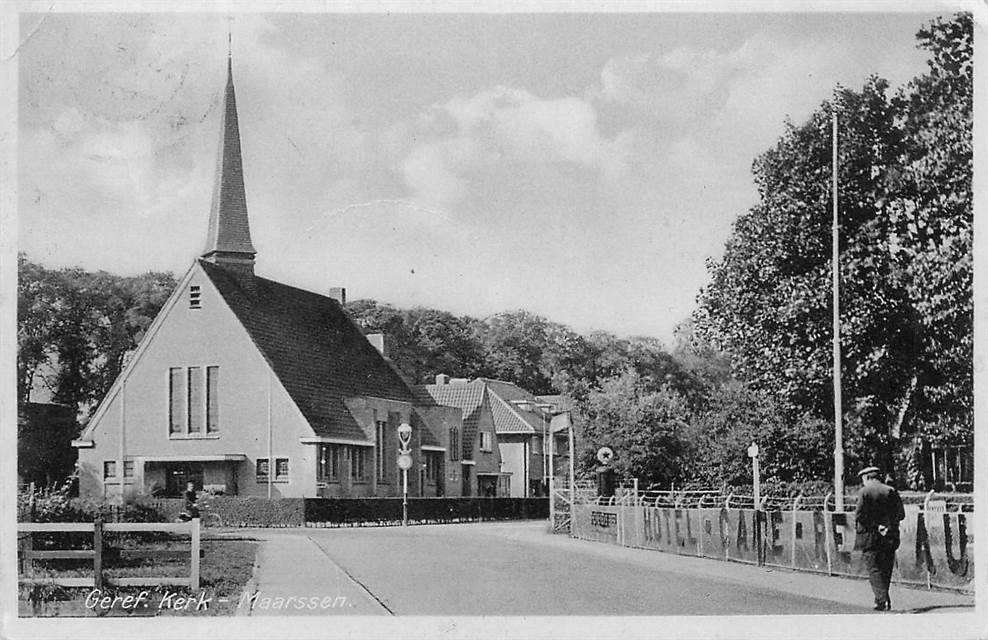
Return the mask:
[[922,73],[915,33],[947,14],[927,6],[25,14],[18,248],[184,273],[205,243],[229,30],[259,275],[670,343],[757,200],[755,157],[836,85]]

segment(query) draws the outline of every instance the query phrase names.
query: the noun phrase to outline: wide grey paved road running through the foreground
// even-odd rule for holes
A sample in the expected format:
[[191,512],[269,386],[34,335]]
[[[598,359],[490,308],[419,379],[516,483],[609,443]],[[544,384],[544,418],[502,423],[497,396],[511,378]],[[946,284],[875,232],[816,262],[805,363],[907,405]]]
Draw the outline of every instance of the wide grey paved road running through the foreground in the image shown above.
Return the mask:
[[542,523],[306,533],[397,615],[872,613],[862,581],[548,536]]

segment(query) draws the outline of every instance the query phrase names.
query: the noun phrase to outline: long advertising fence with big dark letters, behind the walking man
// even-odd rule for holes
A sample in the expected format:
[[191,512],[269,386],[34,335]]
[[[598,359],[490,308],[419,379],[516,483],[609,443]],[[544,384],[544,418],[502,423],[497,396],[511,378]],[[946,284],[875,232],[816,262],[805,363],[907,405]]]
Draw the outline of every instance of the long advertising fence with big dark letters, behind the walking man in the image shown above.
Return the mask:
[[[969,591],[974,579],[970,512],[907,505],[893,580]],[[578,504],[572,535],[683,555],[864,577],[854,514]]]

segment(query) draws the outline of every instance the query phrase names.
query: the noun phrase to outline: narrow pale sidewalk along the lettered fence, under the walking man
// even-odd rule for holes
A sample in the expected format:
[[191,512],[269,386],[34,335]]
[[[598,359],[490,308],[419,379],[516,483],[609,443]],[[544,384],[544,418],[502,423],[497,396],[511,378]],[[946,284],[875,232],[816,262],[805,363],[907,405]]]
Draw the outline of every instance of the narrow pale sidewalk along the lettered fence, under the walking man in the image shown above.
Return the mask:
[[[472,525],[437,525],[448,527],[445,535],[467,532]],[[480,531],[478,529],[478,531]],[[650,549],[620,547],[552,535],[543,522],[487,524],[484,535],[503,537],[524,544],[549,545],[572,553],[599,556],[611,562],[627,562],[657,570],[690,576],[715,578],[738,585],[774,589],[842,604],[870,607],[873,599],[867,580],[792,571],[778,567],[758,567],[738,562],[676,555]],[[946,591],[929,591],[893,583],[890,589],[893,613],[964,613],[974,611],[974,596]]]

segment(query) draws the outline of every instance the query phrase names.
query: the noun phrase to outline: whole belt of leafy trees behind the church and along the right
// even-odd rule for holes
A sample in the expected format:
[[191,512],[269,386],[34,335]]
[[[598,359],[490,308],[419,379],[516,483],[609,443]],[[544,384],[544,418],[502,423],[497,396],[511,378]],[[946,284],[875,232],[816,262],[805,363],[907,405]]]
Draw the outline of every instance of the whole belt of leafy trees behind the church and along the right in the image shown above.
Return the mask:
[[[929,487],[928,451],[973,442],[970,14],[917,33],[925,73],[892,90],[837,87],[786,122],[752,166],[759,200],[736,219],[673,344],[580,334],[511,311],[487,318],[356,300],[366,333],[411,382],[438,373],[561,394],[580,468],[608,445],[646,485],[748,484],[757,441],[773,481],[833,476],[831,135],[839,121],[843,423],[847,468],[877,462]],[[18,262],[18,397],[47,386],[91,411],[176,286]]]

